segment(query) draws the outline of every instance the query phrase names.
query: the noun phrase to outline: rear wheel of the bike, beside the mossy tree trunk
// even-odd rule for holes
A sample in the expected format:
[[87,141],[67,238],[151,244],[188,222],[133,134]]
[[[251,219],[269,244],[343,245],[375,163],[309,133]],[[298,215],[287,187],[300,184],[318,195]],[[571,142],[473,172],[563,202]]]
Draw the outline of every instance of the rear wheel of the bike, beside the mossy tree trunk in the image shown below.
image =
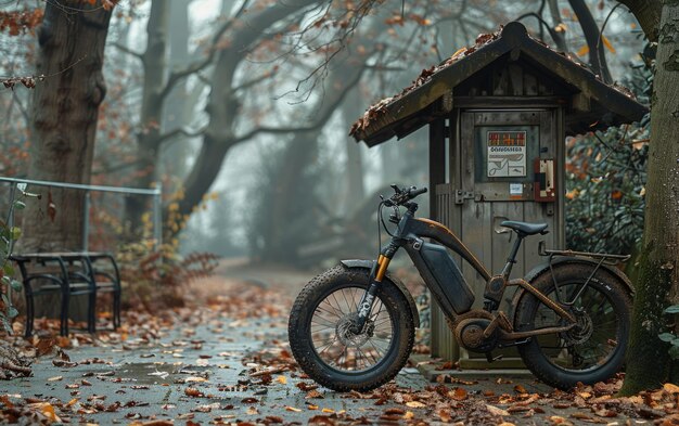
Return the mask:
[[[526,366],[542,382],[561,389],[578,382],[605,380],[625,361],[631,297],[619,280],[603,269],[582,288],[593,268],[581,263],[554,267],[559,289],[549,271],[531,283],[550,299],[560,301],[577,321],[567,332],[534,337],[518,347]],[[564,319],[527,292],[516,306],[516,331],[564,325]]]

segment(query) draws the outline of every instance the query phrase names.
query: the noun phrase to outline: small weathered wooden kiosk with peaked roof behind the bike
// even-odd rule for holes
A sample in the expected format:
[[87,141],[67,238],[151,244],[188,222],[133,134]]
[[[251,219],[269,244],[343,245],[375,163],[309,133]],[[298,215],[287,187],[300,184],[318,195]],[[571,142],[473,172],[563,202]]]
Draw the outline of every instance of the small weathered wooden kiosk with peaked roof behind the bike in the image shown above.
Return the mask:
[[[372,147],[430,125],[432,216],[499,271],[513,244],[513,233],[499,235],[503,220],[547,222],[551,233],[540,238],[548,247],[564,248],[566,135],[639,121],[646,113],[627,89],[605,85],[512,22],[423,70],[399,95],[371,106],[351,134]],[[524,244],[513,276],[539,262],[538,241]],[[481,296],[474,308],[481,308],[485,283],[460,264]],[[513,352],[505,353],[494,366],[516,365]],[[459,360],[463,367],[487,366],[477,358],[483,356],[456,345],[436,308],[432,354]]]

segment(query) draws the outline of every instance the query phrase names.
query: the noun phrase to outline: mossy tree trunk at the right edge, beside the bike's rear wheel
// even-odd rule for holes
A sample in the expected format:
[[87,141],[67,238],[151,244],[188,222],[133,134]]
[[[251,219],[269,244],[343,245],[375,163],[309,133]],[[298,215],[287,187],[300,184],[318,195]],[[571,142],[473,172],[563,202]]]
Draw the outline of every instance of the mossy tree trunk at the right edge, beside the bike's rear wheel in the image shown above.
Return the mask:
[[[670,377],[663,310],[679,301],[679,3],[666,1],[653,81],[643,251],[620,392],[657,388]],[[645,28],[644,28],[645,29]],[[675,328],[675,332],[677,330]]]

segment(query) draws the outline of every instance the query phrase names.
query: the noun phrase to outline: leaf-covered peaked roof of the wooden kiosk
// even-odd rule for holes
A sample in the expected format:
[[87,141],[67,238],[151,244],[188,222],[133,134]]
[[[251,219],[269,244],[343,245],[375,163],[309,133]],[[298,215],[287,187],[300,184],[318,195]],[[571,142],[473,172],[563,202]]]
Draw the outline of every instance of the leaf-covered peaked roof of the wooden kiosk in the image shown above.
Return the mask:
[[440,65],[424,69],[399,94],[372,105],[351,126],[349,134],[369,146],[395,135],[406,137],[436,119],[431,114],[432,104],[505,55],[528,60],[541,73],[568,87],[572,93],[582,93],[591,101],[587,114],[566,113],[566,134],[639,121],[648,113],[628,89],[604,83],[586,65],[534,39],[521,23],[511,22],[498,33],[479,36],[476,46],[460,49]]

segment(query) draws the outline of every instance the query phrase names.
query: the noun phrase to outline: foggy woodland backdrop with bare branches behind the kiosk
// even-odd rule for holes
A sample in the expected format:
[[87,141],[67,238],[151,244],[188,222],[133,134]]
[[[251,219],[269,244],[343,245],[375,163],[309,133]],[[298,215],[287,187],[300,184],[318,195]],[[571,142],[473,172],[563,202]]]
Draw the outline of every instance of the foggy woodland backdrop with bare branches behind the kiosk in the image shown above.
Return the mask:
[[[390,183],[426,186],[428,157],[426,130],[371,150],[357,144],[348,129],[368,106],[473,46],[479,34],[498,30],[498,23],[520,20],[534,37],[581,62],[591,54],[582,16],[567,1],[385,1],[371,3],[366,16],[326,2],[298,3],[116,5],[91,183],[161,182],[169,249],[303,268],[371,256],[377,195]],[[611,80],[648,103],[637,21],[616,2],[582,4],[603,28],[598,48]],[[36,51],[33,31],[0,33],[0,74],[31,75]],[[31,91],[4,89],[0,104],[0,173],[33,178]],[[611,129],[567,141],[571,248],[635,250],[645,131]],[[210,144],[219,149],[206,154]],[[93,193],[91,248],[133,250],[125,245],[151,235],[150,205]],[[427,216],[425,198],[421,205]],[[50,206],[37,208],[49,217]],[[606,220],[612,216],[614,224]]]

